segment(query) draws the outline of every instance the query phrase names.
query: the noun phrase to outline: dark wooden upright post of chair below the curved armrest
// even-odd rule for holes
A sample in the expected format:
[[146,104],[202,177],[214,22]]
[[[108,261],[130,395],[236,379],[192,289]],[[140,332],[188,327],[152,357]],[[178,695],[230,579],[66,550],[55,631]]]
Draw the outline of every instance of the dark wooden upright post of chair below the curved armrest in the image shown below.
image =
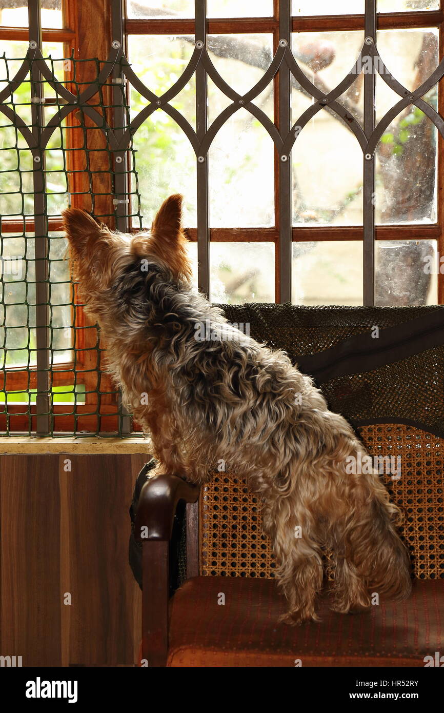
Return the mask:
[[168,542],[142,543],[142,662],[166,666],[168,654]]

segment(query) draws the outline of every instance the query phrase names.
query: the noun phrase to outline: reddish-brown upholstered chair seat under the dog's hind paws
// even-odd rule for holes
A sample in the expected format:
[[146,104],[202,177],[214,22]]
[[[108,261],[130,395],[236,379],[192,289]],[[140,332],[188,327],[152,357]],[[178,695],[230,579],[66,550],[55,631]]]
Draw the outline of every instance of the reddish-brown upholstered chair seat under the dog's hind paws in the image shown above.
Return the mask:
[[[224,604],[220,604],[224,595]],[[443,653],[444,580],[415,580],[405,602],[341,615],[319,600],[321,622],[278,624],[286,602],[275,580],[195,577],[172,600],[172,667],[423,667]]]

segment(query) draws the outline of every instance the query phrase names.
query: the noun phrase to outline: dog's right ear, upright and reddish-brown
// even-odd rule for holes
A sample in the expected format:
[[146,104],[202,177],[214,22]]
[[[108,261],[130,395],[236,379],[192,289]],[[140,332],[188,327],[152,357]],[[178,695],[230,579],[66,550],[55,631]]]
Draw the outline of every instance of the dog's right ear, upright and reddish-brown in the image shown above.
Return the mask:
[[149,249],[166,262],[176,278],[191,277],[187,239],[182,230],[181,195],[170,195],[162,203],[151,226]]

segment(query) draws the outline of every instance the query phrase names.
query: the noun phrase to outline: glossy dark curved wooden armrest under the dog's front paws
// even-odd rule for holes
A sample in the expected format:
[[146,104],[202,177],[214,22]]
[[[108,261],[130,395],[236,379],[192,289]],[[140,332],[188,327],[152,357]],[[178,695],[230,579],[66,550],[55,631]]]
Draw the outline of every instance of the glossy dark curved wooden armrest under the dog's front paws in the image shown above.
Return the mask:
[[195,503],[199,494],[200,486],[187,483],[178,476],[160,474],[150,478],[140,491],[135,514],[135,539],[138,542],[170,540],[177,503],[180,500]]

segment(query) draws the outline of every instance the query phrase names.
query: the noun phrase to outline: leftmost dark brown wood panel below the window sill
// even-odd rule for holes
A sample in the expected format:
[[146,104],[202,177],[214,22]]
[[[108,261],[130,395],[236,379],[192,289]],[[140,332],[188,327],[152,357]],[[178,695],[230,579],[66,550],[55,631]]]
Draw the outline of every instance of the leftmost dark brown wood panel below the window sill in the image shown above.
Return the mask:
[[58,459],[1,456],[1,654],[60,664]]

